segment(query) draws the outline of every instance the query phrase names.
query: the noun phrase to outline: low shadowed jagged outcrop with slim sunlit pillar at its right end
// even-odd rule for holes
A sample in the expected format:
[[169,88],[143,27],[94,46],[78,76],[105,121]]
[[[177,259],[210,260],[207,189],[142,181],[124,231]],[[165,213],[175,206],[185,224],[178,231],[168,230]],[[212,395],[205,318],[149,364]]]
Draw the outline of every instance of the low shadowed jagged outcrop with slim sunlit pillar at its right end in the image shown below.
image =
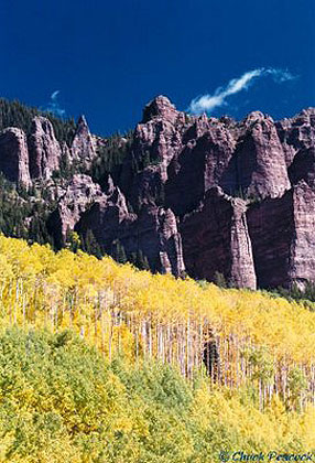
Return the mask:
[[96,201],[76,226],[82,235],[88,229],[108,254],[119,241],[129,260],[141,252],[154,271],[181,276],[185,270],[182,240],[171,209],[146,205],[135,215],[128,211],[123,194],[116,187]]

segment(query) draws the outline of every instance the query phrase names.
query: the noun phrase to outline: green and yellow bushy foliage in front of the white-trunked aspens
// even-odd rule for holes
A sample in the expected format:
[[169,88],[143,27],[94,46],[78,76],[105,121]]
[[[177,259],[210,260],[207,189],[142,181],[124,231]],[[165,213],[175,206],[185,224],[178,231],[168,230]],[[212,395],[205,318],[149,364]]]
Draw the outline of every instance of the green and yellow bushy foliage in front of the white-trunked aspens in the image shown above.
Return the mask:
[[[187,384],[156,362],[111,363],[66,331],[0,335],[0,457],[14,463],[216,462],[314,451],[314,409],[260,411],[246,389]],[[237,457],[237,454],[236,454]]]

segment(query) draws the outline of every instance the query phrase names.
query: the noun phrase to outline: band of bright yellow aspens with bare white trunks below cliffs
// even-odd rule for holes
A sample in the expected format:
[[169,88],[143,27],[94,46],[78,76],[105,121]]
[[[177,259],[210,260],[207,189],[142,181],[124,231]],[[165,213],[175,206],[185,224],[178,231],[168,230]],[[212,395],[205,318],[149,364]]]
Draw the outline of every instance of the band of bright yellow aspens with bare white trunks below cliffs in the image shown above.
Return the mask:
[[302,304],[3,236],[0,263],[2,326],[70,329],[109,360],[153,358],[189,380],[251,384],[260,407],[274,396],[294,410],[315,403],[315,313]]

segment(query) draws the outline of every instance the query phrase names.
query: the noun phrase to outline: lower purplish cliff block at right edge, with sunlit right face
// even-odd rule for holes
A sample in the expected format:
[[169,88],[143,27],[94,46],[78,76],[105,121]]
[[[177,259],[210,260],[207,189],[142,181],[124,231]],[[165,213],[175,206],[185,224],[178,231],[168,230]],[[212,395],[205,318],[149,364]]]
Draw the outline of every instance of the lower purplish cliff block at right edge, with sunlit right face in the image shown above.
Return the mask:
[[259,287],[315,281],[315,191],[306,182],[247,215]]

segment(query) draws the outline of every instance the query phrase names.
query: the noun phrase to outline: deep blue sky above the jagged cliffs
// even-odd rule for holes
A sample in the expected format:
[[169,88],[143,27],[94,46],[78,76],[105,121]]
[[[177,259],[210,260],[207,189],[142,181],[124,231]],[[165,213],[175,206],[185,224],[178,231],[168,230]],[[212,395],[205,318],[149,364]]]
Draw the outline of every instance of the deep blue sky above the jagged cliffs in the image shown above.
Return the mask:
[[85,114],[96,133],[133,128],[155,95],[185,110],[254,69],[210,114],[315,106],[314,0],[3,0],[0,18],[0,95]]

